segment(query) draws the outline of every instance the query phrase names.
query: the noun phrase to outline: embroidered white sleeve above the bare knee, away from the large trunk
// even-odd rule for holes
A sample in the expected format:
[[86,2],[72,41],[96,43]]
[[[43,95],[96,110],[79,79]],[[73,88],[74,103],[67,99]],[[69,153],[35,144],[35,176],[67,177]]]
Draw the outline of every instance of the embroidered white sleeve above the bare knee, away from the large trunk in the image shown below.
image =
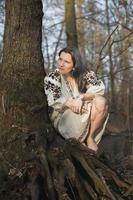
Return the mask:
[[86,92],[92,94],[103,95],[105,91],[104,83],[96,77],[93,71],[87,72],[85,75]]

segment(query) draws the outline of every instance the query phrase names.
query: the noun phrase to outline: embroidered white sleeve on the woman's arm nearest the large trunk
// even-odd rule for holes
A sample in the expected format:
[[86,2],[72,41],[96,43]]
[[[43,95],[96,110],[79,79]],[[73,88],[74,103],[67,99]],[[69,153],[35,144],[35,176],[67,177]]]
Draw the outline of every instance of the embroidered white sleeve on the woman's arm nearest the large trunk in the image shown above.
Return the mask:
[[60,74],[56,70],[44,78],[44,90],[47,96],[48,105],[55,110],[61,110],[66,99],[61,94]]

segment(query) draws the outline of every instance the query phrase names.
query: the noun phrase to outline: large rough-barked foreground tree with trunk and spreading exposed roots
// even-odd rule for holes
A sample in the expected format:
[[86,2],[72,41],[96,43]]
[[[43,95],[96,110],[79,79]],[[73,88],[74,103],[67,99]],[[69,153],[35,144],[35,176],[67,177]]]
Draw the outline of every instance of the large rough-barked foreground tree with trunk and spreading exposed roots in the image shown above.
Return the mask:
[[[124,192],[129,183],[121,180],[87,147],[76,140],[63,140],[48,123],[48,118],[43,117],[47,109],[42,105],[46,98],[41,92],[41,23],[41,0],[6,1],[0,159],[5,161],[7,168],[11,168],[10,175],[21,179],[4,179],[3,182],[14,181],[14,185],[6,187],[7,196],[0,190],[0,198],[128,199],[130,191]],[[45,112],[41,112],[43,110]],[[40,114],[35,117],[35,113]],[[27,173],[31,178],[30,193],[26,193],[25,187],[29,180]],[[106,180],[107,176],[110,177],[109,181]],[[111,181],[121,190],[113,190],[111,184],[109,188],[107,183]],[[121,191],[123,194],[119,195]],[[24,192],[25,197],[20,195]]]

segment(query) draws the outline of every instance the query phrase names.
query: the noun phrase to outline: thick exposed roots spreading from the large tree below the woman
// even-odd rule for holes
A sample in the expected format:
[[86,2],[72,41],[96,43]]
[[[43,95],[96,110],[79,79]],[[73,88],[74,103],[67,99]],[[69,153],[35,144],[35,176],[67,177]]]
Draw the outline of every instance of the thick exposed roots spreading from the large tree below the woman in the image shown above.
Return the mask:
[[[133,190],[130,183],[123,180],[102,159],[92,155],[84,145],[74,139],[63,140],[56,134],[50,129],[37,138],[41,165],[39,174],[47,188],[47,191],[44,190],[45,199],[131,199]],[[32,194],[31,198],[39,199]]]

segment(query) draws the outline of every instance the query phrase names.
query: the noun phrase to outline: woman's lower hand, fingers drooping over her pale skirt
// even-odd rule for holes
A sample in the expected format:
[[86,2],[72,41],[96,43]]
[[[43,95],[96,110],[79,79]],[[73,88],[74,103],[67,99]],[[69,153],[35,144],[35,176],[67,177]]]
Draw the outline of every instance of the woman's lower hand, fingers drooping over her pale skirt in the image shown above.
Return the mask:
[[65,106],[67,106],[69,109],[71,109],[75,113],[81,113],[82,111],[82,106],[83,106],[83,101],[79,98],[77,99],[69,99],[66,103]]

